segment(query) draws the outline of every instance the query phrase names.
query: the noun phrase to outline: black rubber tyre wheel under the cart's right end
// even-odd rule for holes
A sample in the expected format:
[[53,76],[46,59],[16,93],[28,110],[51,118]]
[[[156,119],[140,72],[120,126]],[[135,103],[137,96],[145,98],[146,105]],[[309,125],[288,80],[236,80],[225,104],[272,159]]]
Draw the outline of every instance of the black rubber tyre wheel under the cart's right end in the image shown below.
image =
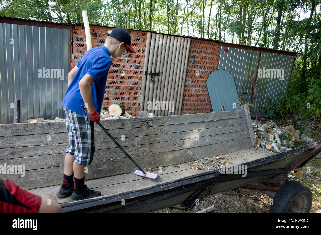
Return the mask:
[[309,213],[311,206],[311,190],[298,181],[289,181],[275,194],[270,213]]

